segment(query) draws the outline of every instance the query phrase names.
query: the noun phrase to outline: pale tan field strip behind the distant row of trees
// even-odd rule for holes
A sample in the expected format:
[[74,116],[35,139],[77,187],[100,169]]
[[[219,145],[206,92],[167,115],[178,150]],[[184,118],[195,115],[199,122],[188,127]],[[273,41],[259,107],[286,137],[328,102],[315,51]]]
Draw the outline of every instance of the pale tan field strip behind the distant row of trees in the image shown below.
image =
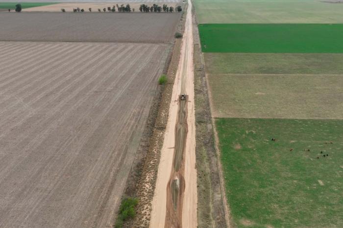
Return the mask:
[[[92,8],[92,12],[98,13],[98,9],[106,8],[107,7],[113,7],[114,5],[118,4],[119,6],[124,4],[126,5],[127,2],[101,2],[101,3],[87,3],[87,2],[75,2],[75,3],[58,3],[53,5],[45,5],[45,6],[39,6],[39,7],[32,7],[24,9],[23,12],[61,12],[61,9],[65,9],[66,12],[73,12],[73,9],[76,9],[79,7],[80,9],[84,9],[86,12],[89,12],[88,8]],[[135,12],[139,12],[139,7],[142,3],[129,3],[131,10],[135,9]],[[152,6],[154,3],[147,3],[148,5]],[[170,3],[168,6],[176,7],[177,3]],[[162,4],[161,4],[162,6]],[[117,7],[116,7],[117,12]],[[112,12],[111,12],[112,13]]]

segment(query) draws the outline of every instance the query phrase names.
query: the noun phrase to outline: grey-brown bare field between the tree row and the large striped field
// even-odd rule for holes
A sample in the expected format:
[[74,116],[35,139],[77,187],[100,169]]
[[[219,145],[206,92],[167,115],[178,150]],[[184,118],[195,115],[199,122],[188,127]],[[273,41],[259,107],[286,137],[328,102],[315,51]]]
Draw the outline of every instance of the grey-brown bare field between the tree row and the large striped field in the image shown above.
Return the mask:
[[179,13],[1,13],[0,41],[171,42]]

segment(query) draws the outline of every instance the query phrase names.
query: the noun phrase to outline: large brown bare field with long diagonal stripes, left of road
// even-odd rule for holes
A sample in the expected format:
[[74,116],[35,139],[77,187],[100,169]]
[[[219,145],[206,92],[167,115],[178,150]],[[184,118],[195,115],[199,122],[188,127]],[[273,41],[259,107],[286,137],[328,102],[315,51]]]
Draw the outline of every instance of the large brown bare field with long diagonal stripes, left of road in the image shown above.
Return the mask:
[[113,225],[168,49],[0,42],[0,227]]

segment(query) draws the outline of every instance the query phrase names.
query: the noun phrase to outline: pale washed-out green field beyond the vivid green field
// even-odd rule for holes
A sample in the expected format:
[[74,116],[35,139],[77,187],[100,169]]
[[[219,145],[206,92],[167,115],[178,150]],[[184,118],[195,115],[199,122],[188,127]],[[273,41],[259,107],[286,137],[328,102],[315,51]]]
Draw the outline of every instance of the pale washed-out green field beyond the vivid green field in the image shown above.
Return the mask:
[[343,4],[319,0],[195,0],[194,5],[199,23],[343,23]]

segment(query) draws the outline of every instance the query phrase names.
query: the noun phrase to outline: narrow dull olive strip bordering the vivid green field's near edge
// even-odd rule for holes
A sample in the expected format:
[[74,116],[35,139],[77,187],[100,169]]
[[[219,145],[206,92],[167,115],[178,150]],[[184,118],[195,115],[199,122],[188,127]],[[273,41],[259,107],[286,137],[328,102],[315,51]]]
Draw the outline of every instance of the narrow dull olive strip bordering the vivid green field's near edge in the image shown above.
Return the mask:
[[210,74],[342,74],[343,54],[204,53]]

